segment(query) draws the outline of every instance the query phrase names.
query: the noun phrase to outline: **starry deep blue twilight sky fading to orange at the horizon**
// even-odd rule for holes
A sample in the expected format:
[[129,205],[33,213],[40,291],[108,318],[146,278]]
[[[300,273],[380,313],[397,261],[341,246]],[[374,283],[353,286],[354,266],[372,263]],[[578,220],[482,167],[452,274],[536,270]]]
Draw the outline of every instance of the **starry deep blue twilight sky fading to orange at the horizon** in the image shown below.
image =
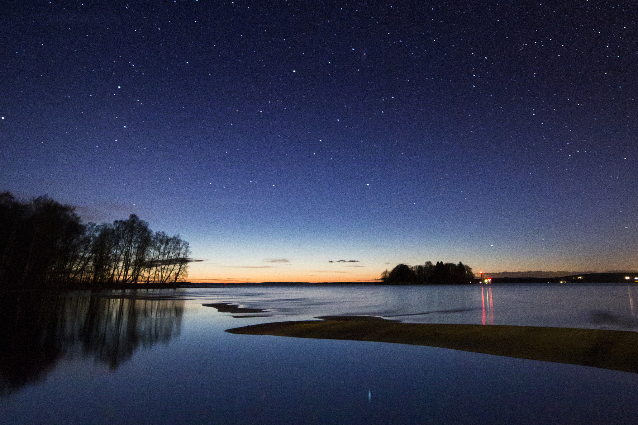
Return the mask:
[[192,282],[637,267],[634,3],[6,4],[0,190],[179,233]]

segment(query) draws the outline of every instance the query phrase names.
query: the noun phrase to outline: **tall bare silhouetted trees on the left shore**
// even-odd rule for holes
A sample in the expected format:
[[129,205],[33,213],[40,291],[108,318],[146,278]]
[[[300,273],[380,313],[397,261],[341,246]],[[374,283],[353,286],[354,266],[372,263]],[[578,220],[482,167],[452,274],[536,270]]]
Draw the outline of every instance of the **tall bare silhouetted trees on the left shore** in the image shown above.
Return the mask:
[[0,287],[175,284],[191,262],[188,242],[153,232],[131,214],[82,223],[75,206],[0,193]]

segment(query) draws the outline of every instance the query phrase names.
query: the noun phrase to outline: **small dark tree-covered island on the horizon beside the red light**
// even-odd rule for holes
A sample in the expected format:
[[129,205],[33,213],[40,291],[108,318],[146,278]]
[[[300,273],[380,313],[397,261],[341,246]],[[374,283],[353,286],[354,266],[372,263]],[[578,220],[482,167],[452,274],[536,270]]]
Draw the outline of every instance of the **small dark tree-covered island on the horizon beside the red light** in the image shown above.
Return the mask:
[[397,264],[392,270],[381,273],[381,280],[385,284],[470,284],[473,278],[471,267],[460,261],[459,264],[443,264],[442,261],[432,264],[431,261],[426,261],[426,264],[412,267],[408,264]]

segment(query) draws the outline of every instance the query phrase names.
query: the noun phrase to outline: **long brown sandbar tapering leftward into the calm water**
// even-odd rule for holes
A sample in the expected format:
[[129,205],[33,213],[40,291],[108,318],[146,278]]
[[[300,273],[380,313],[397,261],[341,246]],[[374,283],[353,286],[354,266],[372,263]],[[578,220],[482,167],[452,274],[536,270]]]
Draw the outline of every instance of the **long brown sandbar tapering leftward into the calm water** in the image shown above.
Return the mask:
[[292,336],[427,345],[496,356],[638,373],[638,333],[604,329],[396,323],[327,316],[227,329],[241,335]]

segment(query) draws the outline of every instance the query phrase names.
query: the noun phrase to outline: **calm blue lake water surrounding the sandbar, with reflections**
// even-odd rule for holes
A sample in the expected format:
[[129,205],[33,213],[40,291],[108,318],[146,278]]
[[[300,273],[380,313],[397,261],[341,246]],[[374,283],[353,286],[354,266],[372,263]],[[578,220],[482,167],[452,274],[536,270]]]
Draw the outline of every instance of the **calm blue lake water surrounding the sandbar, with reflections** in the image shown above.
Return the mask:
[[[635,424],[633,373],[224,332],[337,314],[638,331],[634,294],[638,285],[4,293],[0,423]],[[207,303],[267,312],[220,313]]]

